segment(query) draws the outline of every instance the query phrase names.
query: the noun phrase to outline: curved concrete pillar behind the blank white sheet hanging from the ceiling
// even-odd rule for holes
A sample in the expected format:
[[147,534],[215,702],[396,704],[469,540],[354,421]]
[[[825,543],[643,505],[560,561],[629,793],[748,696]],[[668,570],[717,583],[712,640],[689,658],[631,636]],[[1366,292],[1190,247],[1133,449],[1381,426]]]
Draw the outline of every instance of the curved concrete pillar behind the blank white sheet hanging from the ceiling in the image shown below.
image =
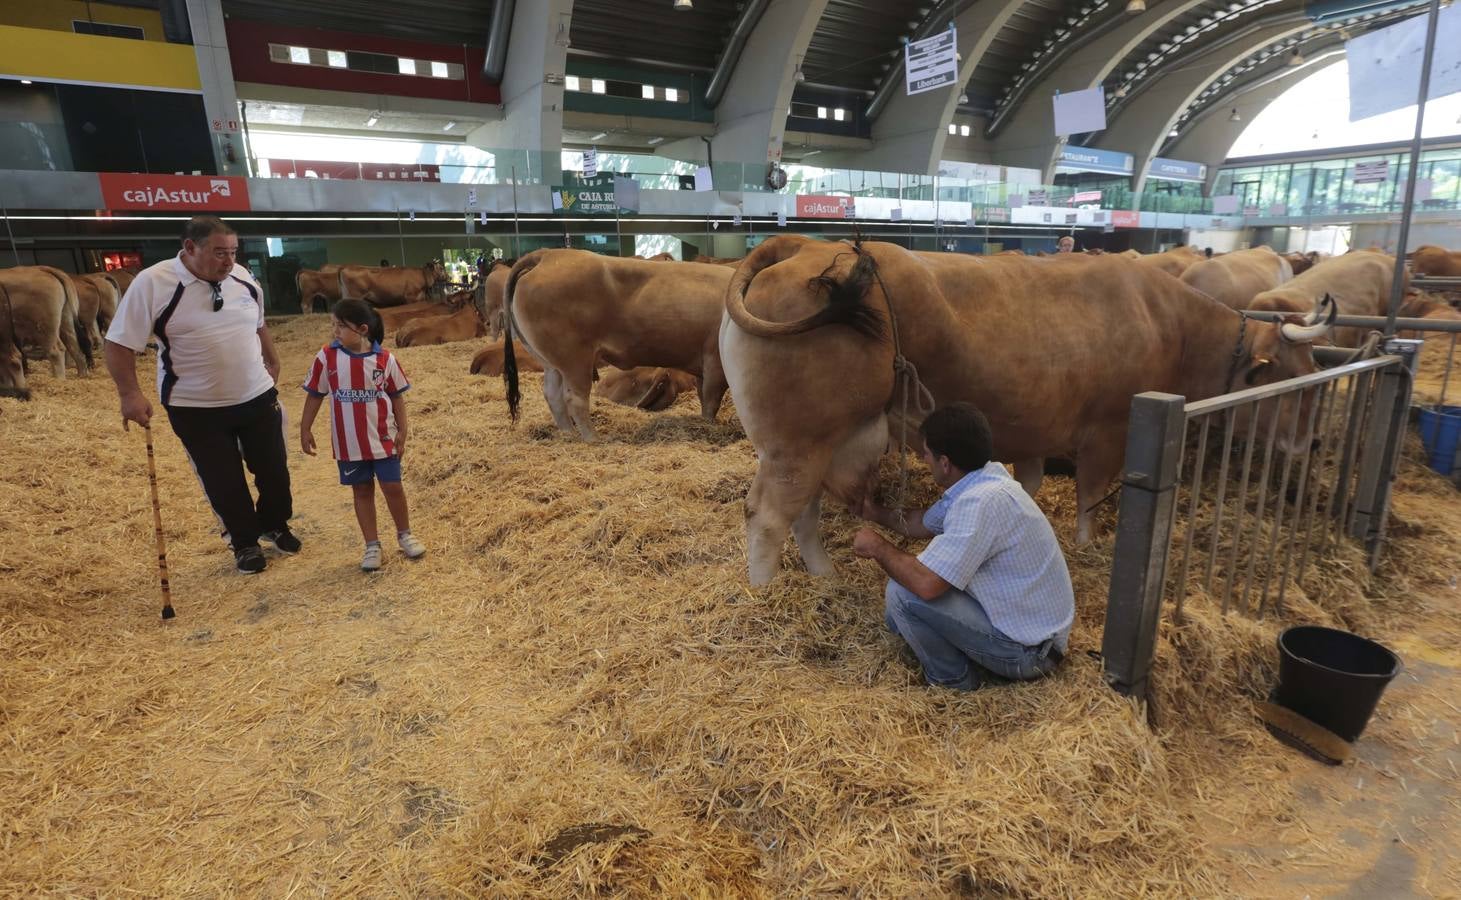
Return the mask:
[[[1056,91],[1088,91],[1103,83],[1126,54],[1173,19],[1201,6],[1202,0],[1166,0],[1131,16],[1110,32],[1077,48],[1040,79],[1020,101],[1008,124],[991,139],[993,158],[1004,165],[1034,168],[1046,184],[1055,177],[1055,162],[1062,142],[1055,137],[1055,111],[1050,98]],[[1110,123],[1106,123],[1107,131]]]

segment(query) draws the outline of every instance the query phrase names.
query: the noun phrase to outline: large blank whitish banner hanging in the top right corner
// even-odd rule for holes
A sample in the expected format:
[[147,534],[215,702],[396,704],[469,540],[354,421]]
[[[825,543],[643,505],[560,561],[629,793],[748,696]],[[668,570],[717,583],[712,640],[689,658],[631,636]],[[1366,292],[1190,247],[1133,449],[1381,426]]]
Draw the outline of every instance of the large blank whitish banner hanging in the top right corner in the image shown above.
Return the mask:
[[[1363,34],[1344,42],[1350,64],[1350,121],[1416,105],[1420,63],[1426,57],[1426,16]],[[1461,91],[1461,7],[1448,6],[1436,19],[1436,53],[1430,60],[1429,99]]]

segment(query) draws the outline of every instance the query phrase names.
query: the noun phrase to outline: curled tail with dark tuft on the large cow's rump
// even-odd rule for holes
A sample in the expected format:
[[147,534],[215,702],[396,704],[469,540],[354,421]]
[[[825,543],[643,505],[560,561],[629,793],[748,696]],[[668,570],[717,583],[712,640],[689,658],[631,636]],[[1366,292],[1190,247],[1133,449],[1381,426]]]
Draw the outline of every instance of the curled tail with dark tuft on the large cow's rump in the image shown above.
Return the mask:
[[868,289],[880,281],[878,264],[861,247],[850,250],[858,259],[846,275],[839,278],[833,273],[842,259],[842,254],[837,254],[821,275],[809,279],[808,289],[824,291],[827,295],[827,305],[817,313],[796,321],[767,321],[747,308],[745,295],[751,289],[751,281],[763,269],[790,259],[809,243],[811,238],[801,235],[774,237],[747,254],[726,286],[726,314],[741,330],[758,338],[801,335],[828,324],[846,324],[861,335],[881,339],[882,314],[866,302]]

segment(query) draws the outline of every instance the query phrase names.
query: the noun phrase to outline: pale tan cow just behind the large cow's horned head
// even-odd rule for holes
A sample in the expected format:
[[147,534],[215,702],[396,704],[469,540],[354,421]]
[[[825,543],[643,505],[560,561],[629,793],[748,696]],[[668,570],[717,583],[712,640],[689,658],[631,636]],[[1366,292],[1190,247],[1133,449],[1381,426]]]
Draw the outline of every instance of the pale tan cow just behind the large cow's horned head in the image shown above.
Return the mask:
[[[1324,297],[1331,297],[1340,316],[1385,316],[1389,311],[1389,291],[1395,281],[1395,257],[1388,253],[1360,250],[1334,256],[1293,281],[1254,297],[1249,310],[1300,313],[1312,310]],[[1410,288],[1410,276],[1401,291]],[[1337,327],[1331,340],[1337,346],[1359,346],[1370,329]]]

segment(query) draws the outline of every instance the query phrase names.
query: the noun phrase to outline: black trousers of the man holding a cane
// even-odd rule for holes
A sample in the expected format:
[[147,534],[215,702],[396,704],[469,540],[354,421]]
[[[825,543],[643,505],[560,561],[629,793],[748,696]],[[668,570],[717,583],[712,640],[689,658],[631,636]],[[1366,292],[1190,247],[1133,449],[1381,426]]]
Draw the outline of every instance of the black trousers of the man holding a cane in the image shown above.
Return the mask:
[[[203,492],[224,520],[235,551],[256,546],[259,535],[288,525],[294,498],[278,390],[270,387],[237,406],[168,406],[167,411],[172,432],[193,459]],[[245,465],[259,489],[257,504],[244,479]]]

